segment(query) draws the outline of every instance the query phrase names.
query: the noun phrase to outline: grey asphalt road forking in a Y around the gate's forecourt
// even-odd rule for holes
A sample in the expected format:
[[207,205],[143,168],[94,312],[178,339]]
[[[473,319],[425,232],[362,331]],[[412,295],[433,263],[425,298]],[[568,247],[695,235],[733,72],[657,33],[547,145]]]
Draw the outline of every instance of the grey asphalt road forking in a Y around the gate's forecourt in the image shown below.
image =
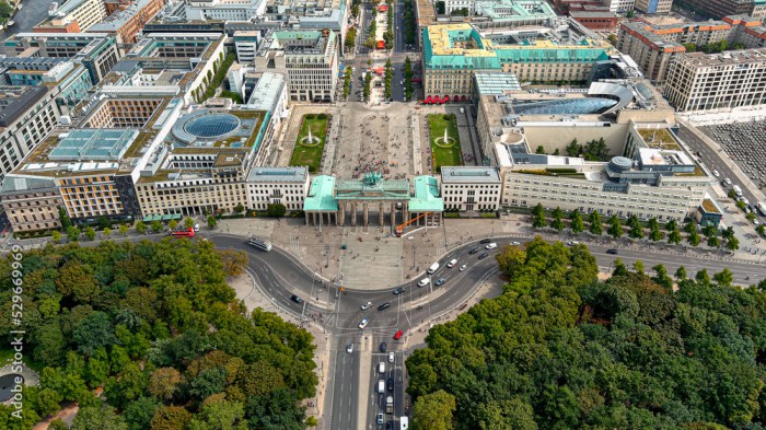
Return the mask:
[[[497,271],[497,263],[494,254],[496,249],[486,251],[484,244],[477,242],[466,244],[448,253],[440,259],[441,267],[430,276],[431,282],[427,287],[417,287],[417,281],[425,277],[420,276],[402,288],[405,291],[394,294],[393,290],[359,291],[351,290],[340,292],[336,286],[327,284],[317,279],[314,274],[305,268],[298,259],[290,254],[274,248],[269,253],[260,252],[245,244],[244,239],[223,234],[207,235],[217,246],[245,249],[248,252],[249,271],[255,276],[259,288],[265,292],[275,305],[286,310],[297,318],[317,317],[316,321],[323,324],[325,333],[330,337],[330,367],[327,370],[327,402],[325,403],[326,429],[357,430],[361,428],[376,429],[375,415],[384,411],[385,396],[375,394],[376,382],[380,377],[376,372],[378,362],[383,359],[379,355],[378,347],[381,341],[386,341],[388,350],[397,351],[396,369],[386,375],[396,381],[395,416],[404,414],[404,350],[405,339],[410,328],[431,321],[437,315],[446,313],[460,307],[465,303],[475,289],[484,279],[492,276]],[[496,239],[498,248],[519,241],[522,244],[527,239]],[[663,264],[670,274],[673,274],[678,266],[684,266],[688,274],[706,268],[709,274],[723,270],[729,267],[735,275],[736,283],[757,283],[766,279],[766,267],[756,263],[727,262],[718,258],[720,254],[688,251],[677,255],[668,247],[662,248],[654,245],[645,246],[618,246],[618,255],[607,254],[608,248],[614,247],[612,243],[588,244],[591,254],[596,258],[600,267],[608,268],[615,258],[619,257],[626,265],[631,265],[640,259],[647,271],[651,267]],[[478,247],[475,254],[469,254],[471,248]],[[478,256],[487,252],[488,256],[478,259]],[[446,268],[445,265],[456,258],[454,268]],[[459,268],[466,265],[466,269]],[[439,278],[444,278],[442,286],[436,287],[434,282]],[[295,303],[291,295],[297,294],[303,299],[303,303]],[[430,298],[433,298],[432,300]],[[372,307],[362,311],[361,305],[372,302]],[[390,303],[390,307],[378,311],[376,306],[382,303]],[[359,329],[362,318],[369,318],[369,324],[364,329]],[[403,330],[405,336],[401,340],[394,340],[396,330]],[[371,356],[371,374],[360,374],[358,346],[363,337],[372,338],[374,352]],[[355,351],[346,352],[346,345],[353,341]],[[387,362],[386,362],[387,364]],[[369,379],[369,404],[365,405],[368,422],[358,425],[357,416],[359,405],[359,386],[362,377]],[[387,418],[386,418],[387,419]]]

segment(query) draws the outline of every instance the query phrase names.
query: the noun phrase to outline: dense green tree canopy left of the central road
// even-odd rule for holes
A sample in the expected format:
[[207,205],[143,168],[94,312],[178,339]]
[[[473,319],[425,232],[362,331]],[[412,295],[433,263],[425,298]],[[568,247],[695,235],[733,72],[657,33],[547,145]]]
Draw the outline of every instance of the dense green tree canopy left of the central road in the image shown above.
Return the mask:
[[[80,405],[72,429],[303,429],[313,338],[235,300],[225,280],[245,262],[187,240],[26,253],[21,329],[45,369],[24,420],[0,405],[0,429],[30,429],[66,402]],[[2,333],[20,328],[11,272],[0,260]]]

